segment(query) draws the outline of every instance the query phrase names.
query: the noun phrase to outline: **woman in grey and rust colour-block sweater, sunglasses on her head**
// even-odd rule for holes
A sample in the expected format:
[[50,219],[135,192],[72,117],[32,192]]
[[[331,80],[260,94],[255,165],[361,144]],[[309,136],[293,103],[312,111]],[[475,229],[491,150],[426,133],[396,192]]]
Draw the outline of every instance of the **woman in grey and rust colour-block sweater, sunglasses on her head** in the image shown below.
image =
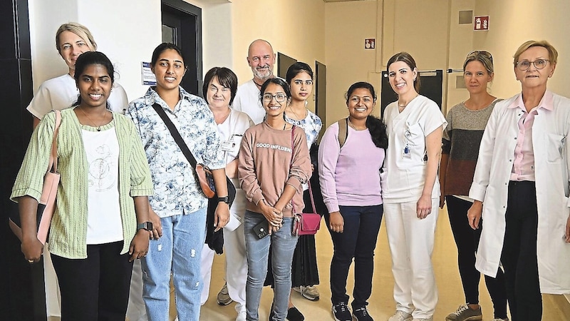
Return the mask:
[[[443,131],[440,208],[443,208],[447,200],[447,213],[457,245],[457,262],[465,293],[465,304],[447,315],[445,319],[447,321],[482,319],[479,305],[481,274],[475,269],[475,253],[481,237],[481,229],[472,230],[466,215],[473,203],[467,195],[469,195],[469,188],[473,181],[481,137],[494,104],[501,101],[487,91],[487,86],[492,83],[493,76],[493,58],[489,52],[473,51],[467,55],[463,63],[463,80],[469,92],[469,98],[453,106],[447,112],[447,127]],[[497,277],[485,276],[485,285],[493,301],[493,321],[508,320],[507,294],[504,288],[503,271],[500,267]]]

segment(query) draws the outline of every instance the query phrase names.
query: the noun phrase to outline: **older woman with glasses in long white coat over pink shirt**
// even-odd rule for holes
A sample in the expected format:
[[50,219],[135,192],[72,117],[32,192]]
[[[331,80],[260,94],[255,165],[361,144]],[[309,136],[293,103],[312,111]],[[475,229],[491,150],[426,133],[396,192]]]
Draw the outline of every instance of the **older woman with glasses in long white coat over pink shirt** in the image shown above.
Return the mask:
[[512,320],[541,320],[542,293],[570,292],[570,99],[546,87],[558,52],[527,41],[514,54],[522,91],[497,103],[469,197],[471,228],[485,228],[477,270],[504,268]]

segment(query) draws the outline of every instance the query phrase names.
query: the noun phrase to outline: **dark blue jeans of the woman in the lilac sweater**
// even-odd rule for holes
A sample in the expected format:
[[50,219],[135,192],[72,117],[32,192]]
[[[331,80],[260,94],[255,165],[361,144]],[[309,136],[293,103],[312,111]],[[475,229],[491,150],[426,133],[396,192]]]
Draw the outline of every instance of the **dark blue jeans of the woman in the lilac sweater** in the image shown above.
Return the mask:
[[372,293],[374,249],[382,222],[383,206],[340,206],[344,220],[343,233],[332,232],[329,215],[326,226],[333,239],[334,254],[331,262],[331,301],[333,305],[344,302],[348,305],[346,279],[354,259],[353,309],[368,305]]

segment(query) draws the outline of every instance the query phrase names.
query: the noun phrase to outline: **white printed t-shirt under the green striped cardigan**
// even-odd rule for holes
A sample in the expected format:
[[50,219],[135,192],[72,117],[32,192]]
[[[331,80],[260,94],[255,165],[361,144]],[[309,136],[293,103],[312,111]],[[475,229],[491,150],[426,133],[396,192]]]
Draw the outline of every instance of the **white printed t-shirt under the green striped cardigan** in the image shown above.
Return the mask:
[[[114,122],[114,121],[113,121]],[[123,240],[119,205],[119,142],[115,126],[97,131],[82,126],[88,163],[87,244]]]

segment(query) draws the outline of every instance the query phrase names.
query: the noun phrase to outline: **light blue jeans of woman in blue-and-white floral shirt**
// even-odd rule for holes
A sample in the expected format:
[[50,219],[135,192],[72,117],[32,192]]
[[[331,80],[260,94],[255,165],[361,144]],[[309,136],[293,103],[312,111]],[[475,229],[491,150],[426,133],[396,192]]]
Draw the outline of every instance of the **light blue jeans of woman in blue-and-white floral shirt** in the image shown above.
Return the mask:
[[200,261],[206,238],[206,208],[187,215],[161,218],[162,238],[150,240],[142,259],[142,280],[149,321],[168,320],[172,273],[179,320],[198,321],[200,316]]

